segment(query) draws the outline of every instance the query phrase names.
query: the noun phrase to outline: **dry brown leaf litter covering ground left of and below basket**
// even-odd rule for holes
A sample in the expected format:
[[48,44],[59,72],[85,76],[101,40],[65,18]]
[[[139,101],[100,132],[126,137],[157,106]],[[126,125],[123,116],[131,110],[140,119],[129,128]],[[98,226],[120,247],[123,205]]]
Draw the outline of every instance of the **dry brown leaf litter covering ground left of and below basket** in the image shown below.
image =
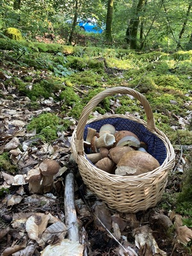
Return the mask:
[[[33,75],[33,72],[31,73]],[[1,79],[8,79],[3,72]],[[10,95],[13,88],[4,88],[3,94]],[[86,188],[79,176],[76,164],[70,164],[71,132],[60,134],[54,143],[44,143],[34,138],[36,131],[27,132],[31,116],[44,111],[54,111],[52,98],[43,100],[42,108],[29,111],[25,106],[28,97],[12,94],[13,100],[1,98],[0,133],[1,154],[8,153],[19,174],[1,172],[0,238],[2,256],[43,255],[187,255],[186,246],[192,239],[191,228],[182,225],[182,216],[163,209],[149,209],[138,214],[122,214],[108,209]],[[114,102],[118,104],[118,102]],[[113,109],[113,106],[111,106]],[[53,110],[52,110],[53,109]],[[97,111],[93,115],[99,115]],[[188,119],[179,117],[184,128]],[[76,120],[74,120],[76,124]],[[54,175],[51,193],[38,195],[29,193],[26,177],[29,170],[36,169],[44,159],[60,163],[59,172]],[[182,168],[182,163],[180,168]],[[67,239],[63,193],[65,174],[72,169],[76,174],[75,204],[79,240]],[[171,237],[165,230],[175,225]],[[157,236],[157,232],[159,232]],[[162,238],[161,238],[162,236]],[[160,237],[158,239],[158,237]],[[178,254],[179,253],[179,254]]]

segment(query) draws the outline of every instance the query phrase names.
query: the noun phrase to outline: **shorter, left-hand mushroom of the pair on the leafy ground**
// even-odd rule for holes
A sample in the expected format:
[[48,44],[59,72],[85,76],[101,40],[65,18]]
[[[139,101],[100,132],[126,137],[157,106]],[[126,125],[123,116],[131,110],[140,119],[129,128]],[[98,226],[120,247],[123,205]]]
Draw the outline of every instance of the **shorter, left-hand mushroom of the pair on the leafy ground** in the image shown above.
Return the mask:
[[42,193],[42,173],[39,168],[31,169],[26,177],[26,182],[29,182],[29,193],[41,194]]

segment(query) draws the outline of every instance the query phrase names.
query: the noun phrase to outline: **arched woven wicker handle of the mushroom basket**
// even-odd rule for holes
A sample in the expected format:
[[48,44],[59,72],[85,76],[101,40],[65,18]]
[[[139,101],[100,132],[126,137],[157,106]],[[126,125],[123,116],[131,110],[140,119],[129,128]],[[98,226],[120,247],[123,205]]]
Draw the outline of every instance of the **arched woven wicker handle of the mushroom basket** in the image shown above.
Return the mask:
[[132,95],[134,98],[138,99],[141,102],[143,108],[145,109],[145,113],[147,115],[147,129],[149,131],[154,131],[156,129],[154,115],[152,113],[152,109],[150,108],[150,104],[148,100],[145,98],[145,96],[143,96],[140,92],[136,92],[135,90],[127,87],[118,86],[115,88],[109,88],[95,95],[84,107],[83,112],[81,113],[81,116],[79,118],[79,123],[77,124],[76,141],[75,141],[76,150],[78,154],[81,154],[81,155],[83,154],[84,127],[86,125],[88,117],[92,112],[93,108],[95,108],[99,104],[99,102],[105,99],[106,97],[114,94],[118,94],[118,93],[129,94],[129,95]]

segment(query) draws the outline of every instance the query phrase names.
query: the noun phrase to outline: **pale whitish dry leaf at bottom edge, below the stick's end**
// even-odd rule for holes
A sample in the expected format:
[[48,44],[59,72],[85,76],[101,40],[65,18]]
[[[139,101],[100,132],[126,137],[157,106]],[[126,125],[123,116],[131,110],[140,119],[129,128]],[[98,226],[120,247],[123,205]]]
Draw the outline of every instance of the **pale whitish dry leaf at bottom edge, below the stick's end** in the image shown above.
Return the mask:
[[83,256],[84,246],[78,242],[63,239],[59,244],[52,244],[45,247],[41,256]]

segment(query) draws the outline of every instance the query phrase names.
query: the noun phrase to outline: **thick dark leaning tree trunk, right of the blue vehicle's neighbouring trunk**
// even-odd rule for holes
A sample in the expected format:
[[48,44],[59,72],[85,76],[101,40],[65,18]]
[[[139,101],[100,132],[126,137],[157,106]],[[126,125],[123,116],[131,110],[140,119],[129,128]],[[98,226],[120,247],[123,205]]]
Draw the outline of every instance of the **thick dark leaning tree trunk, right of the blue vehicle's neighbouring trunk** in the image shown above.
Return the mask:
[[145,0],[138,1],[138,5],[136,6],[136,10],[134,13],[134,18],[130,20],[129,26],[126,31],[127,44],[130,44],[131,49],[138,49],[138,45],[137,45],[138,27],[140,24],[140,16],[141,16],[140,12],[143,9],[144,4],[145,4]]

